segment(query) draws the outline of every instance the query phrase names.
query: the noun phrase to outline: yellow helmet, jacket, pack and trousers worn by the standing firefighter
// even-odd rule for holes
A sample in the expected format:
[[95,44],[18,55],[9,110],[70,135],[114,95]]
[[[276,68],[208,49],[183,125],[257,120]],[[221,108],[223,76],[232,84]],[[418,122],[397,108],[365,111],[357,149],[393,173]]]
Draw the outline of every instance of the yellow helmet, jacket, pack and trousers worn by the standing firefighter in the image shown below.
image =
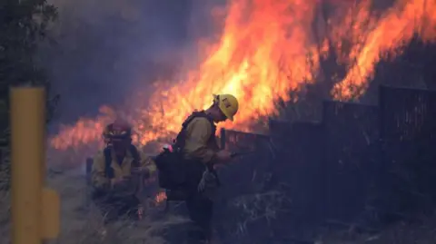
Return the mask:
[[[233,95],[214,95],[213,104],[233,121],[239,107]],[[193,220],[193,228],[188,234],[193,242],[189,243],[205,243],[212,239],[213,200],[208,193],[220,185],[213,169],[220,150],[215,132],[216,126],[210,114],[193,112],[183,122],[172,149],[164,149],[155,159],[160,185],[167,190],[167,200],[172,200],[171,192],[185,193],[183,200]],[[163,186],[168,182],[172,184]]]

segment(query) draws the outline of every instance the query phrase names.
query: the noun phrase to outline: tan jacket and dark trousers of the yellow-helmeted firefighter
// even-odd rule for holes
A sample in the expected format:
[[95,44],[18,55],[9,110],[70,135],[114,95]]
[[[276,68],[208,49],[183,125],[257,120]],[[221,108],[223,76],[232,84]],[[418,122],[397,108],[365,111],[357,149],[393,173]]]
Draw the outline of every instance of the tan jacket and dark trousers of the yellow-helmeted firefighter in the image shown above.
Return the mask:
[[[177,142],[182,146],[183,164],[189,169],[186,174],[186,206],[193,227],[188,236],[191,241],[202,243],[212,238],[213,200],[205,193],[210,192],[207,188],[211,186],[211,181],[214,182],[214,188],[219,186],[218,175],[213,170],[213,161],[219,151],[216,127],[206,112],[193,112],[183,123],[183,128]],[[211,176],[209,173],[213,177],[206,177],[207,182],[202,181],[204,174]]]

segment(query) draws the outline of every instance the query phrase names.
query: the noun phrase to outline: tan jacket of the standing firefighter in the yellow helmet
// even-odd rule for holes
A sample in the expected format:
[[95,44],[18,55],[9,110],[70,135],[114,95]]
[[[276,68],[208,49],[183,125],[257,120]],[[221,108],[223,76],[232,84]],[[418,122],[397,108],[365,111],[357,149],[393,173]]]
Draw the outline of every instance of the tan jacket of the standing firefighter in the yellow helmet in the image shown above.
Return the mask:
[[183,155],[186,160],[213,161],[219,150],[213,122],[205,117],[194,118],[186,126]]

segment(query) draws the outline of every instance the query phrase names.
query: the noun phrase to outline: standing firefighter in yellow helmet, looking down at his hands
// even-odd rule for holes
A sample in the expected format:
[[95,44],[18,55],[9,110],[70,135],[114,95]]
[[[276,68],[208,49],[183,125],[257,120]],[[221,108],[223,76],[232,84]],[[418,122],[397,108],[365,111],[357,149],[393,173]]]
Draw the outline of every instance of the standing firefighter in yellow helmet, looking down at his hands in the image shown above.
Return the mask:
[[191,169],[186,199],[194,224],[188,234],[190,243],[209,243],[212,239],[213,200],[207,193],[219,185],[213,165],[231,159],[230,151],[219,150],[215,123],[233,121],[238,107],[237,99],[231,94],[213,95],[213,104],[205,111],[193,112],[183,123],[184,132],[179,133],[183,136],[176,139],[176,143],[183,140],[183,159]]

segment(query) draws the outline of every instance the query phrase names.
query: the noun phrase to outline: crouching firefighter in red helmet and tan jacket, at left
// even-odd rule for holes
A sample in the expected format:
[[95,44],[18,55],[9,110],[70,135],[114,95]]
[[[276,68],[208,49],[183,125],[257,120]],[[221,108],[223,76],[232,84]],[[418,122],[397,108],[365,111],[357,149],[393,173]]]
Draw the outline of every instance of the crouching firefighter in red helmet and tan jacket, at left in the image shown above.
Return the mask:
[[103,211],[106,222],[128,216],[140,217],[139,174],[150,175],[155,166],[150,157],[132,144],[132,128],[125,122],[108,124],[104,129],[106,147],[94,156],[93,200]]

